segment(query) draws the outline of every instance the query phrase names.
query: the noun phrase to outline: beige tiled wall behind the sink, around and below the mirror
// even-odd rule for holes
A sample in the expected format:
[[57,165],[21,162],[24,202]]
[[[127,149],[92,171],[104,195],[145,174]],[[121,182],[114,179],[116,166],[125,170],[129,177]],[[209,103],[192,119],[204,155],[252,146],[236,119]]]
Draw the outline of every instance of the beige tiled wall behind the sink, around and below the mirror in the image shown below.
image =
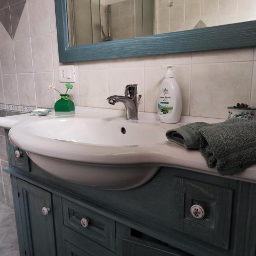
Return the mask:
[[[254,49],[244,48],[79,62],[75,63],[76,82],[71,94],[76,105],[122,109],[121,103],[112,106],[105,99],[123,94],[126,84],[138,83],[142,94],[139,110],[156,112],[158,89],[165,73],[161,66],[175,65],[183,97],[182,114],[226,118],[226,106],[237,102],[256,106],[254,61]],[[48,85],[54,82],[59,90],[65,88],[58,82],[54,0],[27,0],[14,40],[0,23],[0,63],[0,105],[54,106],[58,95],[48,90]],[[3,132],[0,143],[3,167],[7,164]],[[11,205],[9,185],[3,173],[0,201],[5,193],[4,201]]]

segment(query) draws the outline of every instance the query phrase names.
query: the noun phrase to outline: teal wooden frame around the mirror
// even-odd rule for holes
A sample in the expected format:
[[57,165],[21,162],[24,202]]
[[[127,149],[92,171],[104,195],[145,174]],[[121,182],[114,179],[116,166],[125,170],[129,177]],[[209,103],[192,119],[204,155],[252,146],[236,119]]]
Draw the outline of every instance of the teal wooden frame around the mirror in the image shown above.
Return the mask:
[[69,46],[66,0],[55,0],[60,62],[103,60],[256,46],[256,20],[145,37]]

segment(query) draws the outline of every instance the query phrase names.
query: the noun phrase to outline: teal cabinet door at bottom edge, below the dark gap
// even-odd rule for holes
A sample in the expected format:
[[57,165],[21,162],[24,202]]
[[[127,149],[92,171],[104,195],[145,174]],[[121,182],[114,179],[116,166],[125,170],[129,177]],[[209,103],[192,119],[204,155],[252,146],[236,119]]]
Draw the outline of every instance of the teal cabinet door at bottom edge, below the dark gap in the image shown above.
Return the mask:
[[179,249],[169,248],[134,237],[122,239],[122,256],[188,256]]

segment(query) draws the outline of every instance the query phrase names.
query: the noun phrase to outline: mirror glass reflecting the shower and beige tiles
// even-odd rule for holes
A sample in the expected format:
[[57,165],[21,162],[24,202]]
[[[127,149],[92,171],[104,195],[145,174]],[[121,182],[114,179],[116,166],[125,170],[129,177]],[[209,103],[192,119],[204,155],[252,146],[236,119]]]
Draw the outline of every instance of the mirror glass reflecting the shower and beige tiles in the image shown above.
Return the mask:
[[255,0],[67,0],[70,46],[256,19]]

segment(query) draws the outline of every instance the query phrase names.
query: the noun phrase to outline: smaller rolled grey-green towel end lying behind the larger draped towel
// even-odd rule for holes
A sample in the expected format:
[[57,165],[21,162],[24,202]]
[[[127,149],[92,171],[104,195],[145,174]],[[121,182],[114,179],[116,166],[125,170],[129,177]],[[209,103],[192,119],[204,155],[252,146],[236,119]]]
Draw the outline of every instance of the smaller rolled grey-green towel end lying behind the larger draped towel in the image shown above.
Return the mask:
[[233,123],[248,122],[245,118],[231,118],[221,123],[205,123],[196,122],[189,123],[181,126],[177,129],[172,129],[166,132],[168,140],[178,143],[187,149],[198,150],[200,146],[200,134],[199,130],[203,127],[215,126],[215,125],[227,125]]

